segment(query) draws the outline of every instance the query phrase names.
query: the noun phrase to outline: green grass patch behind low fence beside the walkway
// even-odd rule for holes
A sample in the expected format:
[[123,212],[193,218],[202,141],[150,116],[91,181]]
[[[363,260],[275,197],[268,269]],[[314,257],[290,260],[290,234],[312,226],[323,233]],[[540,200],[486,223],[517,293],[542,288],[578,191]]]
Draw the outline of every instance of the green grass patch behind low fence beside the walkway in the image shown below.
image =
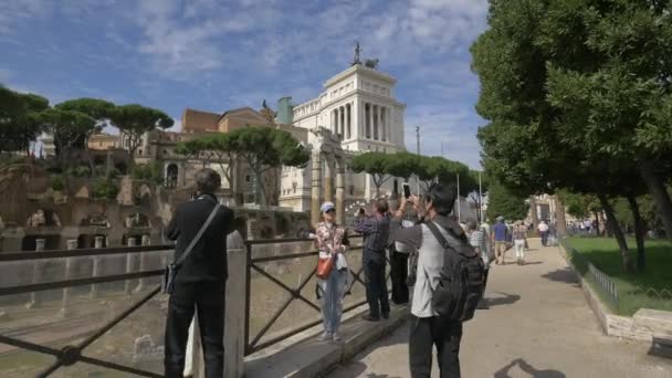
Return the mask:
[[[571,260],[582,275],[588,272],[589,261],[611,277],[618,290],[618,303],[605,301],[608,295],[596,283],[592,285],[617,314],[631,316],[642,307],[672,311],[672,243],[669,241],[647,240],[647,269],[636,273],[623,272],[618,244],[613,239],[568,238],[567,242],[580,252]],[[628,240],[628,246],[631,259],[636,261],[634,239]]]

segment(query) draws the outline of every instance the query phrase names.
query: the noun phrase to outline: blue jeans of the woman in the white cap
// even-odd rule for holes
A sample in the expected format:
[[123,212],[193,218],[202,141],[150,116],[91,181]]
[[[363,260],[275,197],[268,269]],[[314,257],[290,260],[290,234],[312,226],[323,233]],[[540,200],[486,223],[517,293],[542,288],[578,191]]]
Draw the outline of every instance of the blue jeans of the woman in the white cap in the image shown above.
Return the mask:
[[326,280],[319,280],[319,287],[323,290],[322,297],[322,319],[324,332],[334,334],[340,326],[340,315],[343,315],[343,296],[348,279],[348,271],[337,271],[335,267]]

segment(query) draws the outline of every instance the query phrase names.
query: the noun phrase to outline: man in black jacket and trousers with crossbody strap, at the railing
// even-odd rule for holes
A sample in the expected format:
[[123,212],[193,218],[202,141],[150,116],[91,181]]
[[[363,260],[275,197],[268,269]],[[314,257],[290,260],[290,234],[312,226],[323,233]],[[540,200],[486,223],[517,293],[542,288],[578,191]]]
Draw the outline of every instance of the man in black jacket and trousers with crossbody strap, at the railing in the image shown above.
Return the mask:
[[[177,208],[166,231],[170,240],[177,240],[176,261],[217,206],[218,199],[212,193],[220,187],[221,178],[214,170],[202,169],[196,174],[196,199]],[[182,377],[195,309],[203,345],[206,377],[223,377],[227,234],[231,231],[233,211],[222,206],[177,272],[166,322],[166,377]]]

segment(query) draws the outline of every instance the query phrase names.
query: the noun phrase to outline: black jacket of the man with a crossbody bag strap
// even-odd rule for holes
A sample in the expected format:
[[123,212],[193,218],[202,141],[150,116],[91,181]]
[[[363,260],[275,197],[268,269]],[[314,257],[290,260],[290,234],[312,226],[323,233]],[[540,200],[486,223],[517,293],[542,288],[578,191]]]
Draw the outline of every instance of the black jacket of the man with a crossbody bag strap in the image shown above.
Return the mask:
[[[202,195],[177,208],[166,235],[177,240],[175,261],[179,259],[214,209],[217,198]],[[220,207],[210,225],[179,269],[176,283],[223,282],[228,276],[227,234],[233,229],[233,211]]]

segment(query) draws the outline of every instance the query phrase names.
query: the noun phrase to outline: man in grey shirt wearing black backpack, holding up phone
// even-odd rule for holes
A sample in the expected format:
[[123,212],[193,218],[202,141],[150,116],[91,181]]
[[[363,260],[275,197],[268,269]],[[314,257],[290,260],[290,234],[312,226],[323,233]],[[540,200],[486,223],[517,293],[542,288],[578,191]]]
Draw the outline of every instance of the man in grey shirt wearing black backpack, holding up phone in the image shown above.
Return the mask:
[[409,272],[411,300],[409,361],[412,378],[429,378],[432,346],[441,377],[460,377],[462,323],[469,321],[483,290],[483,260],[469,244],[464,230],[450,213],[456,189],[432,185],[424,203],[411,197],[422,222],[401,228],[407,200],[390,223],[391,239],[399,252],[417,253]]

